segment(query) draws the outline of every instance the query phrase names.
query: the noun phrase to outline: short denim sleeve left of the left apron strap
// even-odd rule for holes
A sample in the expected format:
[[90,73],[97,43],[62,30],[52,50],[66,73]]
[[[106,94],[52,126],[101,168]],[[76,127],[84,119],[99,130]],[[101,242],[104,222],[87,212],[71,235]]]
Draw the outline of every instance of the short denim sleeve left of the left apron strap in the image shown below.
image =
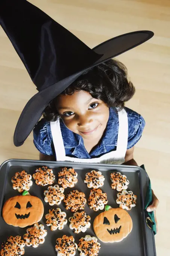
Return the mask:
[[33,129],[33,143],[42,154],[53,155],[50,122],[44,118],[39,120]]

